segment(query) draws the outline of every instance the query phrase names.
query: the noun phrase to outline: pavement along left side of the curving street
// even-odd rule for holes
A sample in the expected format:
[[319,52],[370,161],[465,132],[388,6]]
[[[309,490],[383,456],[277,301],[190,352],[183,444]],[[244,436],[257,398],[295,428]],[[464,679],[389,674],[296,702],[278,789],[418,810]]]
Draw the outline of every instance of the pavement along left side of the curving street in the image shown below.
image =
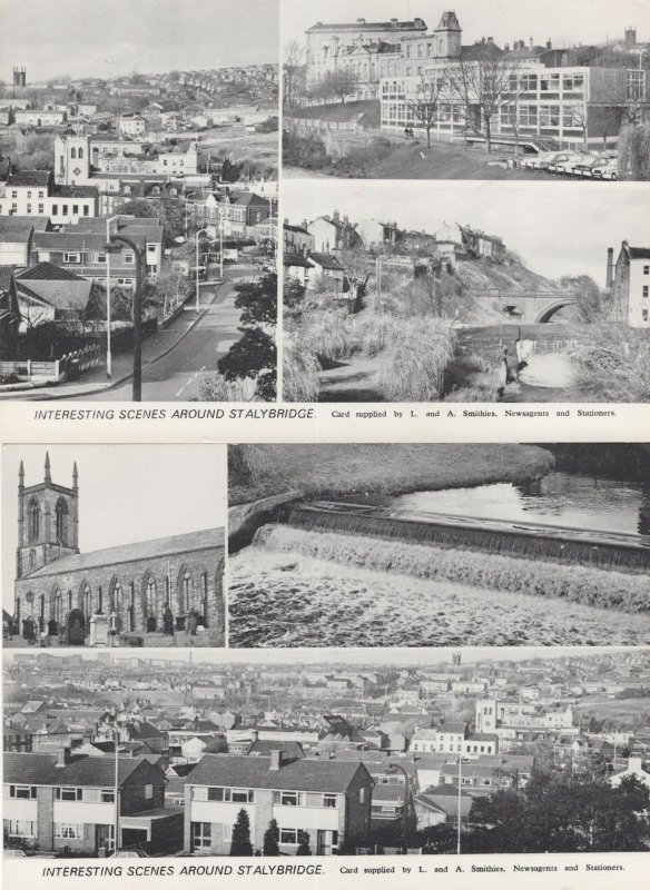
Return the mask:
[[[219,293],[223,281],[206,281],[215,288],[214,294],[209,294],[199,304],[199,312],[196,312],[194,298],[185,304],[183,312],[174,318],[169,325],[159,328],[156,334],[142,340],[142,369],[152,365],[171,352],[196,325],[209,312],[213,303]],[[42,399],[48,402],[57,398],[80,398],[91,396],[96,393],[105,393],[108,389],[117,388],[127,383],[134,376],[134,355],[131,352],[112,355],[112,377],[107,379],[106,365],[100,365],[83,375],[82,380],[71,383],[60,383],[56,386],[32,386],[16,389],[0,389],[0,400],[9,399]]]

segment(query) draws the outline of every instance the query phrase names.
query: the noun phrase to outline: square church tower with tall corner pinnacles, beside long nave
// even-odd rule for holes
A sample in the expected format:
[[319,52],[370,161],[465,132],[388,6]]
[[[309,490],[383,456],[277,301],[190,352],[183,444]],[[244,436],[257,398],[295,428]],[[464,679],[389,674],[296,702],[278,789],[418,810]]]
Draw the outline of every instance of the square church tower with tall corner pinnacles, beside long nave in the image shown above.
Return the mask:
[[45,478],[24,485],[24,467],[18,472],[18,548],[16,577],[27,577],[43,565],[79,553],[79,476],[72,468],[72,487],[52,482],[46,453]]

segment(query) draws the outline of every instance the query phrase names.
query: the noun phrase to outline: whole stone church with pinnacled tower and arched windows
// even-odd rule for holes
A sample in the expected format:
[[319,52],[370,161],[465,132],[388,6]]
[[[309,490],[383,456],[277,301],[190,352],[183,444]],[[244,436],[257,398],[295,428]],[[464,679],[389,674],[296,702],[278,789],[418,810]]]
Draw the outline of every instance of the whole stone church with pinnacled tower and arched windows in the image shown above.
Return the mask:
[[95,623],[115,642],[181,631],[224,644],[223,528],[80,553],[77,464],[59,485],[48,454],[36,485],[20,463],[18,508],[12,623],[26,640],[83,645]]

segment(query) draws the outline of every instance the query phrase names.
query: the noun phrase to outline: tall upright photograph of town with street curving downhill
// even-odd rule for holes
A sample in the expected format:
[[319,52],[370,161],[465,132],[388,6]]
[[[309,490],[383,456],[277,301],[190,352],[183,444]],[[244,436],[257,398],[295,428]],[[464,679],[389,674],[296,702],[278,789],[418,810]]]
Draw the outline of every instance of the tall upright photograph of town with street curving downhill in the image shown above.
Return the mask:
[[275,400],[278,27],[3,1],[1,400]]

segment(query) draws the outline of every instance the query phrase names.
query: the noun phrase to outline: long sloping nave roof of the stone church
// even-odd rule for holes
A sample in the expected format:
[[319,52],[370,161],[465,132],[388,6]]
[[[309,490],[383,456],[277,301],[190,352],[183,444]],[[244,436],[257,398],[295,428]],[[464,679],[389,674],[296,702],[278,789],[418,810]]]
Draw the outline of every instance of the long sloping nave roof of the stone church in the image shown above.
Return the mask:
[[187,532],[183,535],[157,537],[154,541],[138,541],[134,544],[121,544],[117,547],[106,547],[90,553],[72,553],[68,556],[61,556],[60,560],[55,560],[53,563],[43,565],[42,568],[26,575],[26,578],[48,577],[60,575],[63,572],[85,572],[89,568],[98,568],[105,565],[118,566],[122,563],[138,560],[168,556],[171,553],[189,553],[207,547],[221,546],[224,546],[224,530],[206,528],[201,532]]

